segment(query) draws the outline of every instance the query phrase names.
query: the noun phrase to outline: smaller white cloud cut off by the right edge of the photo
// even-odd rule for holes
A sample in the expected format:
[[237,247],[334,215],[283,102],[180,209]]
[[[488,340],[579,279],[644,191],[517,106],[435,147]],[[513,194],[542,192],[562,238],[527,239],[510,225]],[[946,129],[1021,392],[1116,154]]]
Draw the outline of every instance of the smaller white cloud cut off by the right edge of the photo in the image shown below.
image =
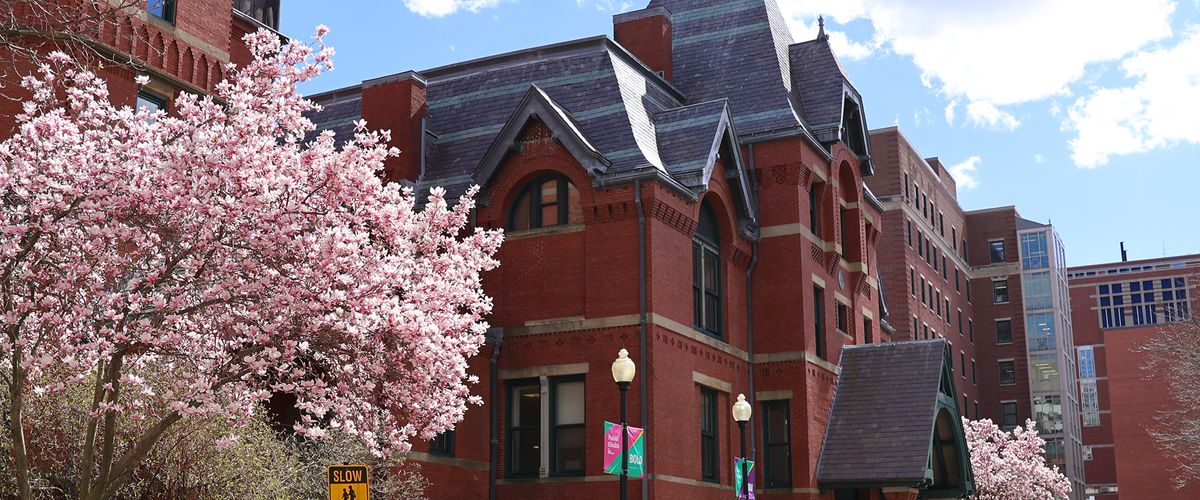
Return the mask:
[[1200,26],[1178,44],[1140,52],[1121,68],[1132,86],[1092,89],[1067,110],[1070,157],[1094,168],[1112,155],[1200,144]]

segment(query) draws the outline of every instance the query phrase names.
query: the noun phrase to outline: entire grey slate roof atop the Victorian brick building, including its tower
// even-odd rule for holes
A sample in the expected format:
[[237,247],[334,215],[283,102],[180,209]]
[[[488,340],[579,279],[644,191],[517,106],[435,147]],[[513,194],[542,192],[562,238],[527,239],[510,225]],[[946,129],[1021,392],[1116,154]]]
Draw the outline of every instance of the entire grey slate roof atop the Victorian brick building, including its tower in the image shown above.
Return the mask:
[[[817,144],[805,108],[824,113],[814,115],[820,120],[834,108],[840,116],[842,95],[826,84],[845,80],[841,66],[827,50],[800,58],[803,70],[794,68],[799,49],[775,0],[650,0],[647,8],[665,8],[672,19],[670,84],[602,36],[419,72],[427,82],[427,135],[418,188],[443,186],[455,195],[486,181],[476,179],[487,171],[482,163],[494,159],[488,151],[497,150],[530,89],[605,164],[593,175],[619,180],[649,173],[696,195],[707,189],[726,135],[802,133]],[[349,139],[361,116],[360,86],[312,98],[324,106],[310,114],[317,128]],[[740,152],[726,150],[745,198],[744,218],[754,221]]]

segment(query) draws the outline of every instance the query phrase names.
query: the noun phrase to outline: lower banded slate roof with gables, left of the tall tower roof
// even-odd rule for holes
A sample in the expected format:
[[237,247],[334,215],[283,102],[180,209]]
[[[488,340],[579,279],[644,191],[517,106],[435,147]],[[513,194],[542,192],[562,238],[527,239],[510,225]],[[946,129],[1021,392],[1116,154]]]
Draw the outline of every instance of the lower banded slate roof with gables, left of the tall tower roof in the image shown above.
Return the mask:
[[[425,169],[418,189],[456,195],[486,182],[533,115],[554,132],[598,183],[656,177],[698,198],[718,155],[756,222],[731,112],[721,101],[685,106],[683,95],[606,37],[530,48],[420,72],[426,78]],[[313,97],[318,129],[338,140],[361,116],[361,90]]]

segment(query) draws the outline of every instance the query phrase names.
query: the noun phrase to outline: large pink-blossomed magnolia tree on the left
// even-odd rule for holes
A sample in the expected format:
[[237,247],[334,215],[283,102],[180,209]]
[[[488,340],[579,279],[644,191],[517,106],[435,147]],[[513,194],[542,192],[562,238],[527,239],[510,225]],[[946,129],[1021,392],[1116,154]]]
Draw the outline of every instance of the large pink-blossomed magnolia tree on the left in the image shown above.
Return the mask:
[[[295,430],[407,452],[462,418],[467,359],[491,309],[498,231],[456,204],[378,177],[398,151],[358,124],[306,141],[296,84],[331,68],[320,42],[247,36],[254,61],[175,114],[114,107],[102,80],[54,54],[23,84],[0,144],[0,380],[11,465],[73,460],[72,496],[116,492],[181,418],[247,420],[294,394]],[[154,382],[148,382],[152,374]],[[79,453],[28,446],[26,396],[90,387]],[[134,424],[132,434],[116,429]],[[122,427],[124,426],[124,427]],[[118,439],[118,436],[130,435]]]

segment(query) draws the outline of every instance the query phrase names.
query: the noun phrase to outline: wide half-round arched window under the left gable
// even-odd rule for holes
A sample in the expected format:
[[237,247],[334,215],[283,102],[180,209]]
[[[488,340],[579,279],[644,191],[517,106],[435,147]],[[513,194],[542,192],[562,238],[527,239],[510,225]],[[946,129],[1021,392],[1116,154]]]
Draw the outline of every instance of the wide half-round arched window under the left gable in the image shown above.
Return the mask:
[[563,174],[547,174],[530,181],[517,194],[509,212],[509,230],[575,224],[583,221],[580,192]]

